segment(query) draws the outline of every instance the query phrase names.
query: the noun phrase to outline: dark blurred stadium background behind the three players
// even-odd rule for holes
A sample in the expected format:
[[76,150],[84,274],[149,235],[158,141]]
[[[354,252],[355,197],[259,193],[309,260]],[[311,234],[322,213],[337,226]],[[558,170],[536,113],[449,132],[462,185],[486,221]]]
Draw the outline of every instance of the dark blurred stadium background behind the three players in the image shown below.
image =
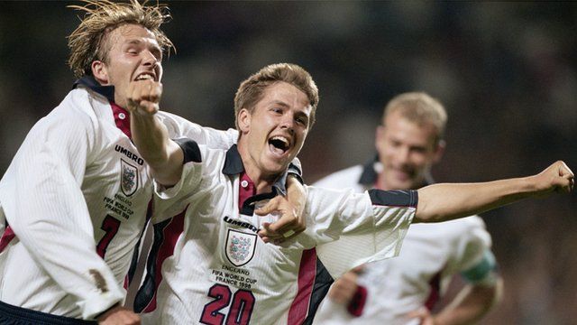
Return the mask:
[[[0,172],[74,78],[66,5],[0,3]],[[299,157],[307,182],[365,162],[389,98],[424,90],[449,112],[437,181],[525,176],[563,159],[577,169],[577,5],[475,2],[169,1],[162,107],[234,125],[241,80],[289,61],[316,79],[317,122]],[[483,324],[577,322],[575,195],[483,214],[505,278]]]

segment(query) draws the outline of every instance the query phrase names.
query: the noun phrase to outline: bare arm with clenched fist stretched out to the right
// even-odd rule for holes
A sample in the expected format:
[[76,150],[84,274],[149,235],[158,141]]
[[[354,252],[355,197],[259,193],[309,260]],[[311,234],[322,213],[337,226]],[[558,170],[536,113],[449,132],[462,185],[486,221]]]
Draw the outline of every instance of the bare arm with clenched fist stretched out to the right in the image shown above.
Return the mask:
[[570,192],[574,175],[561,161],[533,176],[481,183],[439,183],[418,190],[416,221],[463,218],[527,198]]

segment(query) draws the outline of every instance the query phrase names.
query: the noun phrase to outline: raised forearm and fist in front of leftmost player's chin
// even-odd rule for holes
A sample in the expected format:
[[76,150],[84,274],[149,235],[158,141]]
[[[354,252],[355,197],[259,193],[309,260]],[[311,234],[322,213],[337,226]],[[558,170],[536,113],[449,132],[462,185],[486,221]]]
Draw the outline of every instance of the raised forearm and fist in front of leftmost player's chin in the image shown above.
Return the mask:
[[162,84],[153,80],[134,81],[130,90],[128,110],[133,142],[149,164],[154,179],[172,186],[180,180],[184,153],[179,144],[169,139],[166,126],[154,116],[159,110]]

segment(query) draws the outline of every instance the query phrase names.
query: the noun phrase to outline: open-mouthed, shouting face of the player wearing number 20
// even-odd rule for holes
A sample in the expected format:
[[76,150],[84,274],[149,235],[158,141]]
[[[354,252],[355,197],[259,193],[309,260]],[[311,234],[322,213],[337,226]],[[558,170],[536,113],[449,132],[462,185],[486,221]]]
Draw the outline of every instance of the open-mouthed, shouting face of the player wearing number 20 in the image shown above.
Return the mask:
[[251,177],[274,181],[286,170],[305,142],[311,109],[307,95],[286,82],[266,88],[252,113],[241,109],[239,152]]

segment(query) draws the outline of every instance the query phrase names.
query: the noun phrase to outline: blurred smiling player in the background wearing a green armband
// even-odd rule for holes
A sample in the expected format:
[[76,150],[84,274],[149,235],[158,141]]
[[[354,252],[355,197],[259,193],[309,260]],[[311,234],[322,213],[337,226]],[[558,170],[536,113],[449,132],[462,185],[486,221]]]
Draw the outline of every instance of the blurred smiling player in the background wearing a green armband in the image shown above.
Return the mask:
[[[415,190],[432,183],[431,167],[444,152],[447,116],[425,93],[391,99],[377,128],[377,160],[317,181],[356,191]],[[501,279],[481,218],[472,216],[408,229],[396,258],[364,265],[337,280],[316,315],[319,324],[471,324],[498,300]],[[466,286],[449,307],[433,315],[453,275]],[[413,319],[409,318],[413,316]]]

